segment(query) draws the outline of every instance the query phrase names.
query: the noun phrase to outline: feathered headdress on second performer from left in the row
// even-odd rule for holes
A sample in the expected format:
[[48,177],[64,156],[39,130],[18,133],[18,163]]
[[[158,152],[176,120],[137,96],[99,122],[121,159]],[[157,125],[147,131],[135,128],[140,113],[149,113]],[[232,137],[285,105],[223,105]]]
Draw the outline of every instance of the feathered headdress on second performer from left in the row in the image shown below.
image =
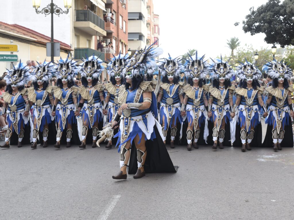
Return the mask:
[[55,72],[54,64],[52,62],[46,62],[46,60],[42,64],[39,64],[39,62],[37,64],[32,72],[32,81],[43,80],[43,82],[49,82]]

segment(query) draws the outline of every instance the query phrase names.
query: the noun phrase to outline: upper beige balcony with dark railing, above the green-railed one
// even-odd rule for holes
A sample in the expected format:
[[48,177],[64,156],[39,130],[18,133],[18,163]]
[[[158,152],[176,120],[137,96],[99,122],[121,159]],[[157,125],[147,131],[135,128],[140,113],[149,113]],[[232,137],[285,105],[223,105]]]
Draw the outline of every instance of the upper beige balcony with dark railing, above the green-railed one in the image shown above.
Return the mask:
[[74,27],[89,35],[106,36],[104,21],[90,10],[75,10],[76,21]]

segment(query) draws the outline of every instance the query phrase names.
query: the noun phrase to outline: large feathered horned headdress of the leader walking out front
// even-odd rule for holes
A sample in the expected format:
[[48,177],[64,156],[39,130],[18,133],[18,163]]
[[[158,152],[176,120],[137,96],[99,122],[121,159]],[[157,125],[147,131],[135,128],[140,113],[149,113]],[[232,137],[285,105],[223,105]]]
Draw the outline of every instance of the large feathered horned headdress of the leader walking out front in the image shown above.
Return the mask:
[[[156,43],[156,42],[154,42]],[[150,45],[139,51],[136,50],[135,54],[128,60],[126,67],[123,69],[123,75],[126,76],[127,72],[131,72],[133,77],[143,76],[148,68],[156,65],[155,58],[163,53],[163,50],[159,47],[152,48],[154,45]]]

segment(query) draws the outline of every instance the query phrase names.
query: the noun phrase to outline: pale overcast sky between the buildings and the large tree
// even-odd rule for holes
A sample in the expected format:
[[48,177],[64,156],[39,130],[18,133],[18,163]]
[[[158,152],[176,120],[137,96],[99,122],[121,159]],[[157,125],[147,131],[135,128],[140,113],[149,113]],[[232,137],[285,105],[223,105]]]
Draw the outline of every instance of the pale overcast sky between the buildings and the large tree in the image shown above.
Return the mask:
[[[159,43],[163,56],[182,55],[188,49],[197,49],[198,56],[216,57],[230,55],[227,39],[238,37],[241,46],[252,44],[253,48],[271,48],[265,43],[264,34],[251,36],[242,30],[242,21],[249,8],[265,4],[268,0],[153,0],[154,13],[159,14]],[[240,22],[239,26],[234,26]]]

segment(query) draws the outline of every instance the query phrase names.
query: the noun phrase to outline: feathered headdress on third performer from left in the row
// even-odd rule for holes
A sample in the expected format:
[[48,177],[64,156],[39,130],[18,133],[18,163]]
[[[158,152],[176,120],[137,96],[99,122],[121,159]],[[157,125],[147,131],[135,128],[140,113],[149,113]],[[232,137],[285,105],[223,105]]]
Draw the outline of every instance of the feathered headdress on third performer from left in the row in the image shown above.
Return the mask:
[[78,75],[78,66],[74,59],[69,59],[69,54],[66,59],[58,60],[58,63],[55,65],[54,69],[56,70],[55,76],[57,79],[67,79],[69,82],[74,80],[74,77]]

